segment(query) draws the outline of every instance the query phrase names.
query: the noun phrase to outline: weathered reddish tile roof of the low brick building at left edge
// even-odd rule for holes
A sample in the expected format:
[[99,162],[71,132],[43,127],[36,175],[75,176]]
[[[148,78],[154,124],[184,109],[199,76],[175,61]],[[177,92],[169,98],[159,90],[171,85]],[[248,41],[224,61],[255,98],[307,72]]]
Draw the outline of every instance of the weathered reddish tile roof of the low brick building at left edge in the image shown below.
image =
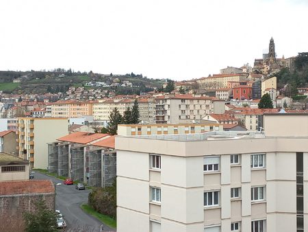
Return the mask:
[[53,194],[54,192],[55,187],[51,180],[0,182],[0,196],[15,194]]

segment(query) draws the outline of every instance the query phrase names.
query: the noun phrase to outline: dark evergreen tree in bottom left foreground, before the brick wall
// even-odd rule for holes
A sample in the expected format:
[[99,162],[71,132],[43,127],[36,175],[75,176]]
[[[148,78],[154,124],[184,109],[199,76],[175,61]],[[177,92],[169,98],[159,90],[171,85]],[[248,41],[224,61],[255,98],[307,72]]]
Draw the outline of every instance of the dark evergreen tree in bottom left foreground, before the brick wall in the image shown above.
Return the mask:
[[35,203],[36,211],[23,214],[27,232],[53,232],[57,231],[57,214],[49,210],[42,196]]

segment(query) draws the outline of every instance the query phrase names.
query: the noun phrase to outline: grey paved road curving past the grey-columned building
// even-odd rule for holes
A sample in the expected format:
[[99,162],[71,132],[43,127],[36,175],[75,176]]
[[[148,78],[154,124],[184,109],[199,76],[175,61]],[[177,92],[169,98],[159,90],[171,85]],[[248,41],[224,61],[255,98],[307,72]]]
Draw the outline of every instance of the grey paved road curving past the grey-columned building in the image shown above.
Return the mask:
[[[59,209],[67,224],[66,231],[100,231],[101,221],[85,213],[79,206],[88,202],[90,189],[77,190],[75,185],[63,185],[63,181],[39,172],[34,173],[34,179],[49,179],[55,185],[55,209]],[[112,231],[103,226],[104,231]]]

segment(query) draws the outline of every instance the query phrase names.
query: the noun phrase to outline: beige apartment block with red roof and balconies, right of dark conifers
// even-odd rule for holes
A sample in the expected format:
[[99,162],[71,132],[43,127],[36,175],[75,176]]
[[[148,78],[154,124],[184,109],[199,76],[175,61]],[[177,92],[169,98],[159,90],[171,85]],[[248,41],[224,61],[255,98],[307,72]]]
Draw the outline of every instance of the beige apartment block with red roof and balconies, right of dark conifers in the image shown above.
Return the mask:
[[224,100],[192,94],[155,98],[156,124],[189,124],[209,113],[224,113]]

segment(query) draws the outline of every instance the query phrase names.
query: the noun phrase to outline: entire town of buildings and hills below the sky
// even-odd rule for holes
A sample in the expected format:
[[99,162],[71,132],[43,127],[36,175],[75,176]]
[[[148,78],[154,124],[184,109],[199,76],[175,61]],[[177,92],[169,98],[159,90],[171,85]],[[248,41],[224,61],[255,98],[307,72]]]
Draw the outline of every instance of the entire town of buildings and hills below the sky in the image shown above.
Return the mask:
[[112,221],[80,224],[93,231],[296,231],[307,217],[308,52],[277,58],[270,38],[253,67],[182,81],[65,69],[0,80],[1,217],[38,201],[72,231],[86,213],[67,209],[86,201]]

